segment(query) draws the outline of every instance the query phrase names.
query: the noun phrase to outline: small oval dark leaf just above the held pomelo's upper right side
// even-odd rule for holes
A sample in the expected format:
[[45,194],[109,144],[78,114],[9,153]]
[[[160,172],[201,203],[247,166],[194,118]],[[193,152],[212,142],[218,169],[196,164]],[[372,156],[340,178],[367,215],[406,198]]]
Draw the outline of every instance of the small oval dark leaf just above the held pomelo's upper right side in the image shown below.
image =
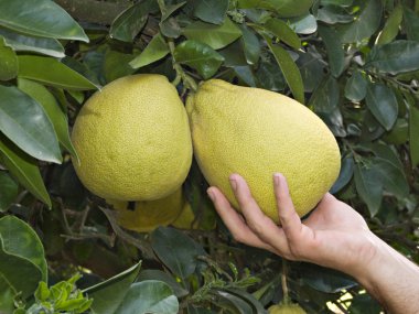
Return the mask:
[[340,90],[337,80],[333,76],[326,77],[314,90],[310,98],[309,107],[315,112],[332,112],[339,105]]

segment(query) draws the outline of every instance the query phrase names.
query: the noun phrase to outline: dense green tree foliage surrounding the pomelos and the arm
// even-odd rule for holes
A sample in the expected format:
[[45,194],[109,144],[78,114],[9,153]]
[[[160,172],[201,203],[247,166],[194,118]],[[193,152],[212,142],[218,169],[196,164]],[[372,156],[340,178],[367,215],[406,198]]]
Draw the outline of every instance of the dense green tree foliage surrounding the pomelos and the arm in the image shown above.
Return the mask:
[[[79,108],[132,73],[163,74],[182,97],[218,77],[304,102],[340,143],[332,193],[419,262],[418,1],[55,2],[0,0],[0,312],[80,313],[93,300],[93,313],[265,313],[282,299],[281,260],[230,238],[196,164],[184,191],[198,228],[186,231],[122,230],[77,180]],[[83,295],[77,277],[47,288],[76,272]],[[309,313],[379,311],[342,273],[293,262],[287,275]]]

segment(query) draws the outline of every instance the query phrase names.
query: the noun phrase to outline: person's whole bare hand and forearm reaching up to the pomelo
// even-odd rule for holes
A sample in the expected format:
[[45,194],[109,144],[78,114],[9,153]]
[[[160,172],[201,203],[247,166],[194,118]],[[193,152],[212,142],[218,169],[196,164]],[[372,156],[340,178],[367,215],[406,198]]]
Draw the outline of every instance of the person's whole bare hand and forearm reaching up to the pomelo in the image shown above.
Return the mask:
[[229,180],[243,215],[217,187],[210,187],[207,193],[235,240],[288,260],[343,271],[391,313],[419,313],[418,266],[375,236],[351,206],[327,193],[301,221],[286,177],[276,173],[273,191],[281,224],[278,226],[260,210],[240,175],[232,174]]

